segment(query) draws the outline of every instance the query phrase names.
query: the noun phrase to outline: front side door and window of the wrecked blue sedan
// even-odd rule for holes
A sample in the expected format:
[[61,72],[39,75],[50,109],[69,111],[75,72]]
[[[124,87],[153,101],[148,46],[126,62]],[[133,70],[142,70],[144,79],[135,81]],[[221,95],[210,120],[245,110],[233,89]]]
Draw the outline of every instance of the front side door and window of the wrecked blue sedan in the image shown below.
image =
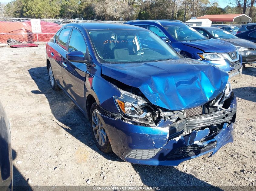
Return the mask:
[[[81,51],[85,55],[86,51],[88,51],[85,37],[75,28],[71,31],[67,47],[68,52]],[[85,63],[71,62],[66,56],[63,58],[62,66],[64,90],[77,103],[78,107],[82,109],[84,106],[85,77],[89,66]]]

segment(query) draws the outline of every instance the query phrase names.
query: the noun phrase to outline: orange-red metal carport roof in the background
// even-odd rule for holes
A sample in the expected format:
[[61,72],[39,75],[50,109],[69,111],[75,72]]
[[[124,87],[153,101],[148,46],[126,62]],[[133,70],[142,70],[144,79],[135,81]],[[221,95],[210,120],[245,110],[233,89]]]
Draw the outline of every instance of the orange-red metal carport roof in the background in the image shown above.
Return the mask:
[[212,22],[251,22],[251,18],[246,14],[207,14],[197,19],[209,19]]

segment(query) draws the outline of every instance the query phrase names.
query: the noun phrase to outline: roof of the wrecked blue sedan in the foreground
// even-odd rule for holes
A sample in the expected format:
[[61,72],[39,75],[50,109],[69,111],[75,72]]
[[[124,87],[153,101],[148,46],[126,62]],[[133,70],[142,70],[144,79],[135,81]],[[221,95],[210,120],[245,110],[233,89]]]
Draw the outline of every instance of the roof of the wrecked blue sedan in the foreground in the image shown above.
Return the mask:
[[137,30],[146,30],[141,27],[128,24],[119,24],[119,23],[71,23],[66,24],[64,27],[83,27],[85,30],[94,30],[94,29],[137,29]]

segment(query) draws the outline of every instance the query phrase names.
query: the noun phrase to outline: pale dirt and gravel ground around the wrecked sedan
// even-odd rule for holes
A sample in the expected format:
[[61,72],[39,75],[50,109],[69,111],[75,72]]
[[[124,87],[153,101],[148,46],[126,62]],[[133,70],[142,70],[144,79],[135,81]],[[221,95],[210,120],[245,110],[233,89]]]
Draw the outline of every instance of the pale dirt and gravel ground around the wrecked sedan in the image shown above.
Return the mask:
[[0,52],[0,100],[11,123],[14,185],[256,188],[256,67],[246,65],[231,79],[238,98],[234,143],[210,158],[153,167],[126,163],[96,148],[83,114],[63,91],[51,89],[45,46]]

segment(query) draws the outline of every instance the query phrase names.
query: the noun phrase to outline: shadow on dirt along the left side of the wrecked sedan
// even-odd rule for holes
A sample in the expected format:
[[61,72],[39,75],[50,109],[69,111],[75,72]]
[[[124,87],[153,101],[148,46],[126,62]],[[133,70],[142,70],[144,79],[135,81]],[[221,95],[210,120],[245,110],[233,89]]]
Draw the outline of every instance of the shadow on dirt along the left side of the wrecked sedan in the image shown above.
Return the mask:
[[68,134],[77,138],[80,142],[84,143],[94,151],[100,153],[106,159],[111,161],[122,161],[114,153],[105,154],[98,150],[94,144],[94,140],[89,129],[90,123],[85,118],[83,113],[62,90],[52,90],[46,66],[31,68],[28,70],[28,72],[39,89],[39,91],[32,90],[31,92],[33,94],[45,95],[52,110],[52,114],[57,120],[55,122],[57,124],[58,122],[61,122],[68,127],[66,128],[58,124],[62,129],[66,130]]

